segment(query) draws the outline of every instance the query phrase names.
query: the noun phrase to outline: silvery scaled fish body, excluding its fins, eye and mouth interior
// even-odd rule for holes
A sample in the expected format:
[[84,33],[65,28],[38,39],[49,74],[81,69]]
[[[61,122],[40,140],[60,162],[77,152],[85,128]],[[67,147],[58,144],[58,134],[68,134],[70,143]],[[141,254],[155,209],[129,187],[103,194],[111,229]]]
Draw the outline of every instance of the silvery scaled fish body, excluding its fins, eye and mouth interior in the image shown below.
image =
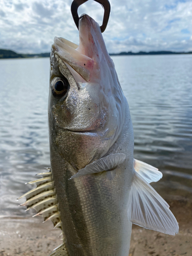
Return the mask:
[[[51,169],[65,243],[69,255],[128,255],[132,223],[127,219],[127,198],[134,147],[131,115],[100,28],[84,15],[79,31],[79,51],[94,61],[92,74],[85,77],[88,81],[77,74],[74,79],[74,71],[70,73],[68,63],[63,63],[62,45],[54,44],[51,53],[51,66],[58,64],[58,70],[51,71],[51,83],[53,76],[58,77],[55,71],[61,72],[70,87],[64,101],[55,101],[51,91],[49,101]],[[115,153],[125,154],[126,159],[110,172],[69,180],[90,162]]]

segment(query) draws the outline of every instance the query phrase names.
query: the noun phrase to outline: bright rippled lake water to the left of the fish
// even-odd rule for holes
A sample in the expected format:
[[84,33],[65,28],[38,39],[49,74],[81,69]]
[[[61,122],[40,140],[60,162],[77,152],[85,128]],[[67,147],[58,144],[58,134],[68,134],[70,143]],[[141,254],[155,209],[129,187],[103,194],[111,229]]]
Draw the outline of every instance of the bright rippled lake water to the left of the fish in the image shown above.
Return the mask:
[[23,212],[15,199],[49,166],[49,59],[1,60],[1,215]]

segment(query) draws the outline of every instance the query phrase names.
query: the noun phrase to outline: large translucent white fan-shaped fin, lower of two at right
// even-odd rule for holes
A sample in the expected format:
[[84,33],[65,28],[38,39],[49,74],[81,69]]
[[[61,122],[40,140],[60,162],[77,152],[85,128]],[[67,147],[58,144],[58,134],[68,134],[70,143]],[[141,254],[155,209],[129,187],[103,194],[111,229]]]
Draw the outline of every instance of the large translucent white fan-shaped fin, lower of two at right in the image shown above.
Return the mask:
[[135,173],[129,196],[128,218],[147,229],[175,235],[179,232],[169,205],[143,178]]

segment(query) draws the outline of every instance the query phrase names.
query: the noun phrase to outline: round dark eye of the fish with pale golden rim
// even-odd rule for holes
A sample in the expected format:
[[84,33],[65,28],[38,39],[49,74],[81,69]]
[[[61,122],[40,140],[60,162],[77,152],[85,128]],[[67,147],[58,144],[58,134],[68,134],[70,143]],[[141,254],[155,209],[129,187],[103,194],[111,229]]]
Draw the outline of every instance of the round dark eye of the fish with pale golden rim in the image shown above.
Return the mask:
[[57,98],[61,98],[67,94],[69,88],[69,83],[67,79],[55,78],[52,81],[52,94]]

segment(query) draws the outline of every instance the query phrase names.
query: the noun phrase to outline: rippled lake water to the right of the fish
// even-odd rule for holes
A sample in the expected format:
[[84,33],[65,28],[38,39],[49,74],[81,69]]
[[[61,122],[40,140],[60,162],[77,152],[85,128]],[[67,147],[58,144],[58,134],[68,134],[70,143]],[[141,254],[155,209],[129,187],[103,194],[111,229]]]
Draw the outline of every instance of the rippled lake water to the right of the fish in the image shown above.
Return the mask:
[[163,172],[153,183],[162,196],[191,199],[192,56],[134,57],[114,62],[131,109],[135,158]]

